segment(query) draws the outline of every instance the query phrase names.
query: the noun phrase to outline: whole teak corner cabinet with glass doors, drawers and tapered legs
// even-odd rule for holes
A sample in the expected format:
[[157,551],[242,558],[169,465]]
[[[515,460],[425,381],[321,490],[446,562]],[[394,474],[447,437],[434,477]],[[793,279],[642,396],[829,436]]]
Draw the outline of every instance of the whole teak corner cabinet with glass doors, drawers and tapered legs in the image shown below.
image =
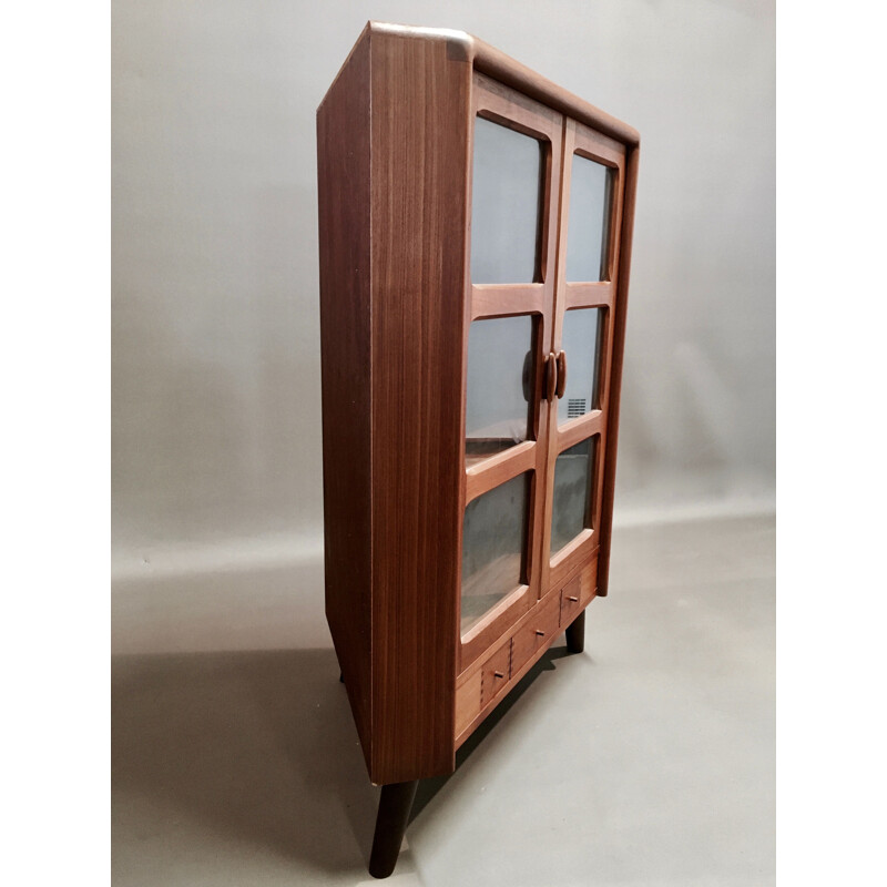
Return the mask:
[[606,594],[638,146],[450,30],[369,23],[317,111],[326,614],[376,876]]

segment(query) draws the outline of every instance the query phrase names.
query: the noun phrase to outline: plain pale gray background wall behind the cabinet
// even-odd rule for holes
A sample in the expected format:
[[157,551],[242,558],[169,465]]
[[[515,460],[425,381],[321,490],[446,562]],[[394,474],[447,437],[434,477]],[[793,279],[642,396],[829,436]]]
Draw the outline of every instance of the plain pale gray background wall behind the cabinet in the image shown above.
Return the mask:
[[315,110],[369,18],[470,31],[640,130],[616,521],[772,509],[772,2],[115,0],[118,588],[317,570]]

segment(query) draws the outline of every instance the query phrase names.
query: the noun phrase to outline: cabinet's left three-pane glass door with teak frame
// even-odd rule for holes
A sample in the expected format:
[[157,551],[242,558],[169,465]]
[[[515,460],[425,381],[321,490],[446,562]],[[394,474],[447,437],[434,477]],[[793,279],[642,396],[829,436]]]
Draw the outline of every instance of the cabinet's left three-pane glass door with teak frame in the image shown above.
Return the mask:
[[460,671],[539,598],[563,119],[475,73]]

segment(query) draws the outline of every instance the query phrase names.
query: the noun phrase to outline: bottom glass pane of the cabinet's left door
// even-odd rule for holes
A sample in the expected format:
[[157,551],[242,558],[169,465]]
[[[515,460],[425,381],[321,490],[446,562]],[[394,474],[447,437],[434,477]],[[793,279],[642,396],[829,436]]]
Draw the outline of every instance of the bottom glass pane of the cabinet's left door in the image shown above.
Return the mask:
[[465,509],[462,633],[521,584],[530,475],[493,487]]

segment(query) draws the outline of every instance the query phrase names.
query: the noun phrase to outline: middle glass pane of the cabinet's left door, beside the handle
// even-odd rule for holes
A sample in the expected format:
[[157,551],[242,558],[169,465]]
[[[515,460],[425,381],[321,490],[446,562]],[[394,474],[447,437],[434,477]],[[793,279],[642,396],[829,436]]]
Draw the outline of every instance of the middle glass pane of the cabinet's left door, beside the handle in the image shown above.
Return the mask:
[[468,332],[466,465],[527,440],[533,386],[530,315],[475,320]]

